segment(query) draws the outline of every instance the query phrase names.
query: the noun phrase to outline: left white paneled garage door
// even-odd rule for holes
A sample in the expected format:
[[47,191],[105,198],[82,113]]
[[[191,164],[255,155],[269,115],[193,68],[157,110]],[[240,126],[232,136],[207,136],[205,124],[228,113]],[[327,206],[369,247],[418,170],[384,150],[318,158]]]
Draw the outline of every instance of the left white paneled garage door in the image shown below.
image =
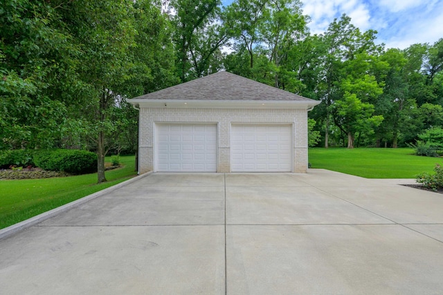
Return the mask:
[[157,124],[157,171],[217,172],[216,124]]

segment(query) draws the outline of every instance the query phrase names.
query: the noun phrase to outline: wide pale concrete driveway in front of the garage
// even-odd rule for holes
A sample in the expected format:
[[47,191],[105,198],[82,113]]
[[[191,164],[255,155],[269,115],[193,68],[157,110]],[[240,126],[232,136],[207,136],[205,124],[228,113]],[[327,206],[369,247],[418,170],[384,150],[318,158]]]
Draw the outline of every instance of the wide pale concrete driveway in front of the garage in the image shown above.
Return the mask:
[[0,293],[442,294],[443,196],[401,181],[154,173],[0,240]]

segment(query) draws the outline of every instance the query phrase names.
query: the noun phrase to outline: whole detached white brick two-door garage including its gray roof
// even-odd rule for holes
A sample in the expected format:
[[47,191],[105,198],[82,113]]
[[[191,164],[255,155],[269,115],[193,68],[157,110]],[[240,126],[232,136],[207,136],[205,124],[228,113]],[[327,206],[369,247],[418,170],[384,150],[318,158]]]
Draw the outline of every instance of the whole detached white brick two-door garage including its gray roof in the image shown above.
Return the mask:
[[319,102],[228,72],[129,99],[138,171],[307,171],[307,112]]

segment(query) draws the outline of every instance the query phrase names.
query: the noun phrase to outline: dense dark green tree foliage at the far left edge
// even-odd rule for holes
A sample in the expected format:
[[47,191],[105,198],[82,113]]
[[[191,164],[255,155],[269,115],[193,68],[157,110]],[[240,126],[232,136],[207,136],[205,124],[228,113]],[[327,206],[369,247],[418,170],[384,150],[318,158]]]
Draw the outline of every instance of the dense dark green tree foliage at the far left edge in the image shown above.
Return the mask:
[[44,1],[5,0],[0,11],[0,149],[56,146],[78,48]]

